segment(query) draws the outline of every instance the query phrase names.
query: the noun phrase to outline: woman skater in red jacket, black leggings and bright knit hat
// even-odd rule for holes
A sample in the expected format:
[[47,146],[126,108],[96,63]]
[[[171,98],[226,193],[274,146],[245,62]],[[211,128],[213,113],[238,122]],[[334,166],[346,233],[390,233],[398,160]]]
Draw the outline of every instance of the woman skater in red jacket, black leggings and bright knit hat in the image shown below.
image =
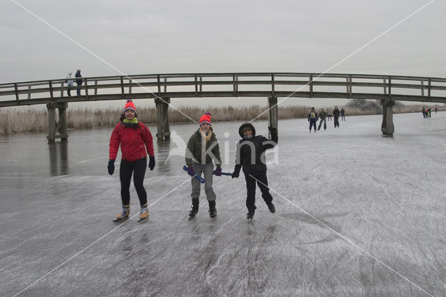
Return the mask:
[[[130,214],[130,181],[133,174],[134,188],[137,190],[141,211],[140,220],[148,218],[147,192],[144,189],[144,175],[147,168],[155,167],[155,155],[153,153],[153,138],[147,125],[137,119],[137,109],[132,100],[125,104],[123,114],[116,124],[110,137],[109,165],[110,175],[114,172],[114,161],[121,146],[121,165],[119,167],[119,180],[121,181],[122,211],[116,216],[116,220],[128,218]],[[146,152],[147,151],[147,152]]]

